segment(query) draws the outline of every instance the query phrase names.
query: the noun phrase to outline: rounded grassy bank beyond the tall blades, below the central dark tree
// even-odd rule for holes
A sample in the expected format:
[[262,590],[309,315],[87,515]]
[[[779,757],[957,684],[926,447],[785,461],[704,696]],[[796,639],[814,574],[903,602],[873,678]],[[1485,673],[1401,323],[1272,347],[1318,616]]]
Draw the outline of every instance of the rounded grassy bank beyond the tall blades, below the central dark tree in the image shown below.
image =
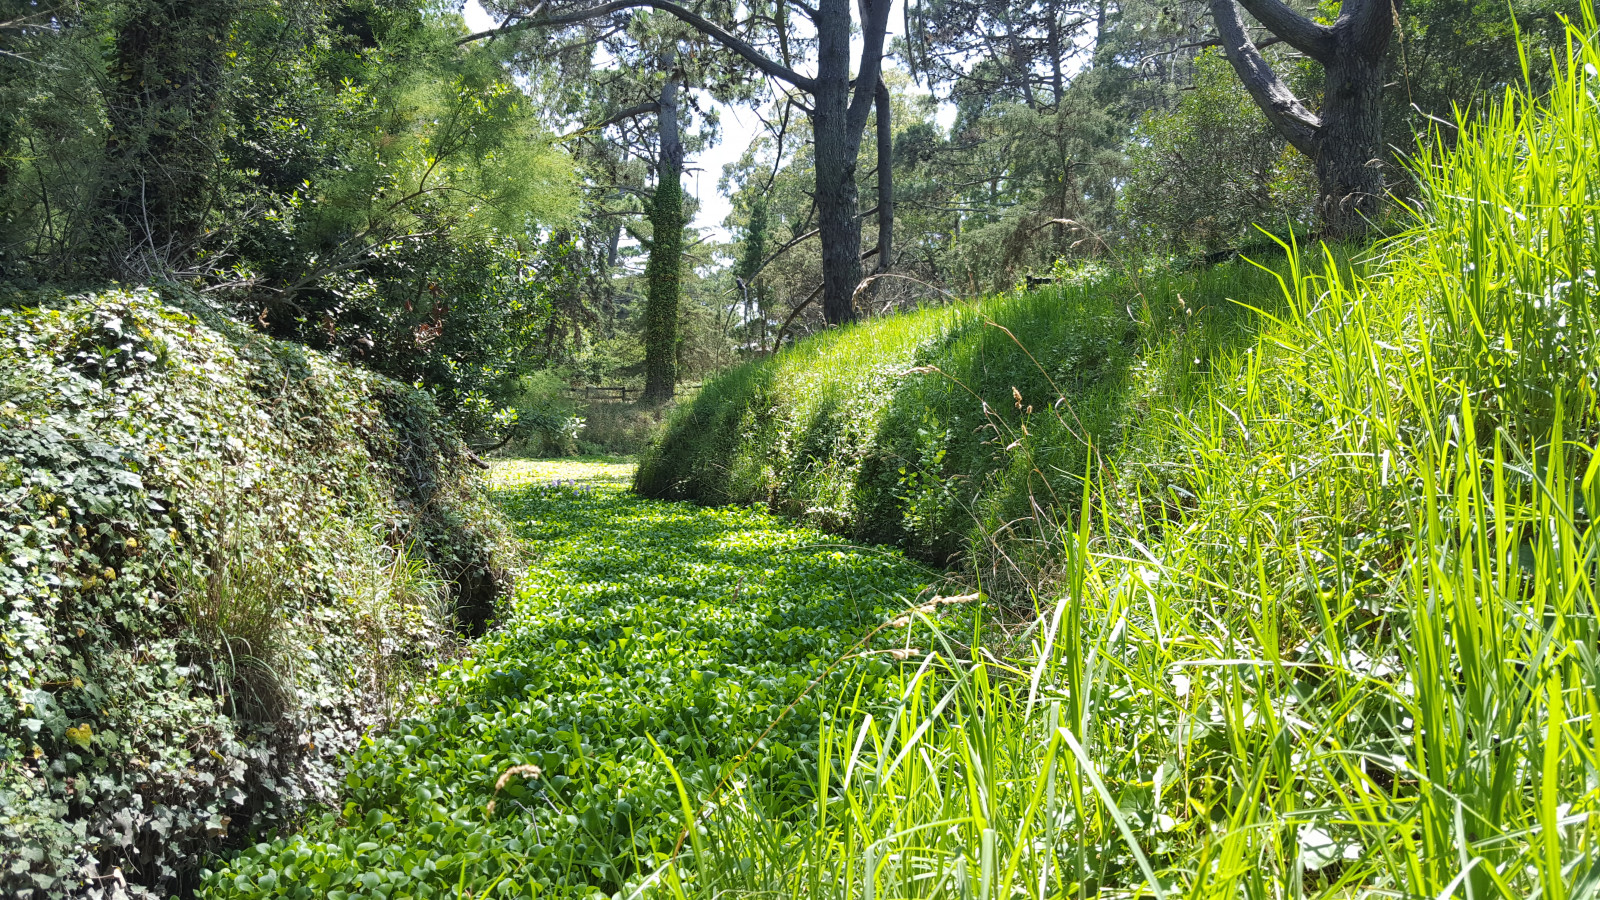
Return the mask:
[[938,564],[1027,554],[1077,504],[1091,448],[1096,464],[1120,453],[1150,399],[1248,341],[1254,317],[1230,298],[1277,290],[1243,261],[1064,282],[829,331],[723,373],[674,412],[637,487],[763,503]]

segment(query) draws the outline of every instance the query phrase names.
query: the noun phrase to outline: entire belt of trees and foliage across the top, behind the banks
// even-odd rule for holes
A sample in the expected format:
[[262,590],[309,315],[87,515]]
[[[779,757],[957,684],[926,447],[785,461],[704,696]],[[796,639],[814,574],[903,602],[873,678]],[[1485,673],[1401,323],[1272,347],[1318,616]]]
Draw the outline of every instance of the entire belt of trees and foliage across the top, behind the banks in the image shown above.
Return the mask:
[[[536,372],[661,402],[1061,264],[1382,231],[1453,110],[1523,77],[1517,35],[1579,10],[6,0],[0,279],[186,285],[486,447]],[[728,141],[731,211],[696,221]]]

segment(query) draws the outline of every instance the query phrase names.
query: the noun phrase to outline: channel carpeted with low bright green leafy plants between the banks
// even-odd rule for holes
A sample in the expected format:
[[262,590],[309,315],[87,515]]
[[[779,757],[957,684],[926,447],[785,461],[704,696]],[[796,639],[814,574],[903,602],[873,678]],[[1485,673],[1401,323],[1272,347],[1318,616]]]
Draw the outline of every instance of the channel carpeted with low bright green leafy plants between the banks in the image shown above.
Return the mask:
[[[354,761],[341,815],[242,855],[208,894],[613,894],[682,830],[651,740],[709,798],[818,673],[928,580],[760,511],[640,500],[629,471],[496,466],[496,495],[536,554],[506,621]],[[738,780],[778,806],[806,802],[819,719],[858,689],[891,690],[894,671],[886,655],[843,666]]]

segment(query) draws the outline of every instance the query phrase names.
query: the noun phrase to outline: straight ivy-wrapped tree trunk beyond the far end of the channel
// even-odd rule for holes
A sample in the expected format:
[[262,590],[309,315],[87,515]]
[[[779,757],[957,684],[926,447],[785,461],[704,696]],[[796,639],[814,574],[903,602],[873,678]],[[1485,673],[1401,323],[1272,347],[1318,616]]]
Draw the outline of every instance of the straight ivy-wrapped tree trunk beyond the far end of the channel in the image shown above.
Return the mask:
[[678,381],[678,291],[683,274],[683,141],[678,136],[677,48],[662,54],[661,159],[650,202],[650,261],[645,264],[645,402],[666,404]]

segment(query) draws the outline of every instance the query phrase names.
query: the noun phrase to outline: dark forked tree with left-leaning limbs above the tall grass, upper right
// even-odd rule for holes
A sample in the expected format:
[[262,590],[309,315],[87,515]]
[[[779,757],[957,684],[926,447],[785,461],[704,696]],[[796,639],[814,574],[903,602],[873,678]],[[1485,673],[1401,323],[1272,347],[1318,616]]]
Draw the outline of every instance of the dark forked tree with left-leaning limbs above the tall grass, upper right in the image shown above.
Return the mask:
[[[1322,110],[1312,112],[1261,56],[1240,5],[1278,40],[1322,64]],[[1384,194],[1382,90],[1398,0],[1344,0],[1323,26],[1282,0],[1211,0],[1211,19],[1245,90],[1285,141],[1310,157],[1318,216],[1330,237],[1357,237]]]

